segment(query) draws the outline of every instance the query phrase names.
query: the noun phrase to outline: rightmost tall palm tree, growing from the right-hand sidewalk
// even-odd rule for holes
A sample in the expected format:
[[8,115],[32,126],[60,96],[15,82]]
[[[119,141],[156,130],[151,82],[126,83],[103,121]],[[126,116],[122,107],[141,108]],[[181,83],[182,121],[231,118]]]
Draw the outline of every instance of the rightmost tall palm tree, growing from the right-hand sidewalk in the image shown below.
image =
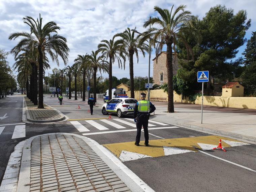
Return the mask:
[[[185,5],[180,5],[174,12],[172,12],[173,6],[171,10],[161,9],[158,6],[155,6],[154,9],[160,14],[159,17],[154,17],[147,20],[143,27],[148,27],[149,25],[158,25],[158,28],[152,27],[145,33],[143,33],[145,38],[152,37],[151,41],[152,45],[156,48],[156,58],[163,49],[163,45],[167,45],[167,55],[166,55],[166,67],[167,67],[167,78],[168,78],[168,109],[169,113],[174,113],[173,106],[173,72],[172,72],[172,44],[174,45],[174,54],[175,52],[175,44],[177,41],[182,41],[187,47],[187,52],[192,55],[192,49],[189,47],[185,38],[183,38],[183,33],[191,33],[193,34],[195,40],[197,42],[200,41],[200,34],[194,28],[192,24],[192,15],[188,10],[184,10],[186,8]],[[155,42],[158,41],[157,46]],[[189,54],[188,54],[189,57]],[[175,57],[174,57],[175,58]]]

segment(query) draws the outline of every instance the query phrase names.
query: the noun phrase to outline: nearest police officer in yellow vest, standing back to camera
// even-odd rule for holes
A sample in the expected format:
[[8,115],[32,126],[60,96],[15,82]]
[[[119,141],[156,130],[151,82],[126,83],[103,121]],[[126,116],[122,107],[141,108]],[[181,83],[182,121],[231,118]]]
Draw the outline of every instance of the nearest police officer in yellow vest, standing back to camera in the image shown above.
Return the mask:
[[146,99],[145,93],[140,94],[140,99],[141,100],[135,104],[134,113],[133,113],[134,122],[136,122],[136,127],[137,127],[135,145],[139,146],[140,133],[143,125],[144,136],[145,136],[144,144],[146,146],[149,146],[149,131],[148,131],[149,116],[151,113],[154,112],[154,110],[156,110],[156,107],[150,101],[145,100]]

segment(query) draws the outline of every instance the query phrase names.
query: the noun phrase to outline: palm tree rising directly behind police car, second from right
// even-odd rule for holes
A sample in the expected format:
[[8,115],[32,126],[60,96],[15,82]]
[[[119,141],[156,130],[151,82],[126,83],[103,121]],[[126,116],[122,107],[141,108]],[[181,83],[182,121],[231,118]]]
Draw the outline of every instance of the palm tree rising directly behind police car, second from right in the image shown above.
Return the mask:
[[[136,29],[136,27],[135,27]],[[127,28],[123,33],[118,33],[116,36],[122,37],[121,54],[125,54],[129,58],[130,82],[131,82],[131,98],[134,98],[134,80],[133,80],[133,55],[137,57],[139,62],[138,52],[141,51],[143,57],[145,52],[148,52],[148,45],[142,42],[140,35],[134,36],[134,31],[131,33],[130,28]]]

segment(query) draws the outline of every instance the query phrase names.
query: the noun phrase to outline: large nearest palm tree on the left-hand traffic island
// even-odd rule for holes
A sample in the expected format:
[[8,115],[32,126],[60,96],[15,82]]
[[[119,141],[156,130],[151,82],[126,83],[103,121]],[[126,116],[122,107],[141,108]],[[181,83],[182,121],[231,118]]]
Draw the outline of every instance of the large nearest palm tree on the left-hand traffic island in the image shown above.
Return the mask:
[[22,37],[20,42],[12,49],[14,52],[20,52],[21,49],[29,45],[34,46],[38,50],[38,108],[43,107],[43,60],[44,55],[47,53],[50,55],[53,62],[59,65],[59,57],[64,61],[66,65],[68,60],[68,46],[65,37],[58,34],[60,27],[53,21],[42,25],[41,14],[39,14],[39,20],[34,20],[32,17],[23,18],[25,24],[30,27],[30,33],[28,32],[16,32],[9,36],[9,39],[16,39]]

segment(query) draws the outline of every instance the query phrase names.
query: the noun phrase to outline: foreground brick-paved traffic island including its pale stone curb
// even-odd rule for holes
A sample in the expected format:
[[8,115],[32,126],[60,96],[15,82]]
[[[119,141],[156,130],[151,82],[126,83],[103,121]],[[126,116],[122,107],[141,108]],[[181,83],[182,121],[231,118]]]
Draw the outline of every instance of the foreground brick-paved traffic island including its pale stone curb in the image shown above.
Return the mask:
[[94,140],[69,133],[29,138],[23,147],[17,191],[153,190]]

